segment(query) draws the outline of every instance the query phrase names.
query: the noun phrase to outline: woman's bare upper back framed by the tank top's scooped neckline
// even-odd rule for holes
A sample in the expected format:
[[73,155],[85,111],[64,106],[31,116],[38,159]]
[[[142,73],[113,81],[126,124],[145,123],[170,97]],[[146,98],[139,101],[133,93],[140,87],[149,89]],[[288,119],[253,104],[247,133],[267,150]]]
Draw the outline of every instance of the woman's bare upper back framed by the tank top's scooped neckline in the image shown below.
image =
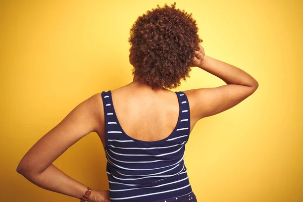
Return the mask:
[[[99,97],[100,124],[97,133],[105,145],[104,109],[102,98],[100,95]],[[179,103],[177,94],[172,90],[155,92],[126,85],[112,90],[112,98],[119,123],[124,132],[132,138],[157,141],[168,137],[176,127]],[[190,120],[191,132],[197,121],[192,116],[191,110]]]

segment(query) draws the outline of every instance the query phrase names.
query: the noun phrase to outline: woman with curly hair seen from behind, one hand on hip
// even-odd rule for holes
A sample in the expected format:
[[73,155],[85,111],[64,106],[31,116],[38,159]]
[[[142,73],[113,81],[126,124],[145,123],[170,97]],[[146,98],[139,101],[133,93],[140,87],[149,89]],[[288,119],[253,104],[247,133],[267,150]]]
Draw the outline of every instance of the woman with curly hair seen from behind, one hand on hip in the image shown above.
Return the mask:
[[[196,201],[183,161],[190,132],[198,120],[242,102],[256,91],[258,82],[205,55],[196,21],[175,5],[157,5],[133,24],[129,38],[133,81],[84,100],[33,145],[18,173],[44,189],[81,201]],[[169,90],[189,77],[193,67],[226,85]],[[91,189],[52,164],[90,132],[103,143],[110,190]]]

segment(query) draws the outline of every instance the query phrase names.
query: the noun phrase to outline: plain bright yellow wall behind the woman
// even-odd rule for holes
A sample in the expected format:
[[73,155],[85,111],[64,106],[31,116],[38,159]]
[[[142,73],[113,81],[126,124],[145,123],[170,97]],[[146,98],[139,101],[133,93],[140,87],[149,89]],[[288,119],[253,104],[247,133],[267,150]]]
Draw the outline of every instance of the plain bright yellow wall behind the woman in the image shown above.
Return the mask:
[[[77,104],[132,81],[129,29],[139,15],[164,3],[0,3],[2,201],[78,201],[30,183],[16,167]],[[302,3],[176,3],[197,20],[207,55],[259,81],[255,94],[238,106],[195,125],[185,162],[198,201],[303,201]],[[172,90],[225,84],[197,68],[190,75]],[[95,133],[54,164],[94,189],[108,188],[106,159]]]

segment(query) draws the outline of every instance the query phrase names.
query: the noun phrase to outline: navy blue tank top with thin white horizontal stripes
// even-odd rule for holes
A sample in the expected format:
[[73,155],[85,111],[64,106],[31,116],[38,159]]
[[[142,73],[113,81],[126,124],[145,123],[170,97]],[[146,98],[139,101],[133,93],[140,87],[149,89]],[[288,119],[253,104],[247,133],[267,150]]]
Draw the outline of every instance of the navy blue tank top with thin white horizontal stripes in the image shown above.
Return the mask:
[[142,141],[123,131],[111,90],[102,92],[106,172],[112,201],[149,202],[178,198],[192,192],[183,160],[190,132],[189,103],[184,92],[175,93],[179,117],[173,132],[162,140]]

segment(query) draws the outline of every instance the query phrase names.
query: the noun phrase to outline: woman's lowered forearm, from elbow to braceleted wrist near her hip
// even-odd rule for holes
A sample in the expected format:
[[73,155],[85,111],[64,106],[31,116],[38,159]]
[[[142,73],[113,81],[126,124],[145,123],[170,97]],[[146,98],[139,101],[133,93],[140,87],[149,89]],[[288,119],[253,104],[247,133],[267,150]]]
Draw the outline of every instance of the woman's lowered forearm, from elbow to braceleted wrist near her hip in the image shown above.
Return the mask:
[[76,198],[81,198],[87,189],[86,185],[69,177],[53,164],[39,174],[30,172],[21,172],[21,174],[41,188]]

